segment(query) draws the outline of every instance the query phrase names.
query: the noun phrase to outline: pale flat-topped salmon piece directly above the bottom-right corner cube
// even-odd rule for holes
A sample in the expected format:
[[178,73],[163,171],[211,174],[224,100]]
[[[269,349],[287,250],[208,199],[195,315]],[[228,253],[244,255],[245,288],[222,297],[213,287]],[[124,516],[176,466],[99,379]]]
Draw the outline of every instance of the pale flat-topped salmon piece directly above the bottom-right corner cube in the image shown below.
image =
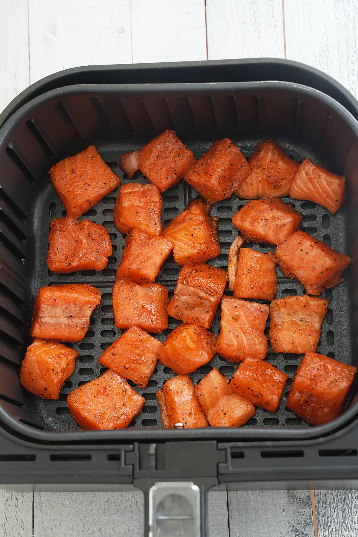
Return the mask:
[[270,304],[273,352],[303,354],[317,351],[328,302],[316,296],[287,296]]

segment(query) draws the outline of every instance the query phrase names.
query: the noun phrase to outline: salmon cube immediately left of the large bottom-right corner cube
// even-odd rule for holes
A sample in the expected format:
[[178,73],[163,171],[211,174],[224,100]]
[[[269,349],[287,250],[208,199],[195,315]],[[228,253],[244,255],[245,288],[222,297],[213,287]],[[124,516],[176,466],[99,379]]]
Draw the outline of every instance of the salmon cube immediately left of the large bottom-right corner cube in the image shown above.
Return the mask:
[[279,408],[288,375],[263,360],[245,358],[230,382],[233,393],[270,412]]

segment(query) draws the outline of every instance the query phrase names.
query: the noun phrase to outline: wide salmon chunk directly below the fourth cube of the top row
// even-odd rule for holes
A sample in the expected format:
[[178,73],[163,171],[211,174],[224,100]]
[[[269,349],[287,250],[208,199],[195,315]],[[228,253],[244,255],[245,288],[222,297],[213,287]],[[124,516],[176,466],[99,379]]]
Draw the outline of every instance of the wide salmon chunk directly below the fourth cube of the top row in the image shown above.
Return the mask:
[[248,201],[232,222],[247,242],[280,244],[300,229],[302,214],[279,198]]

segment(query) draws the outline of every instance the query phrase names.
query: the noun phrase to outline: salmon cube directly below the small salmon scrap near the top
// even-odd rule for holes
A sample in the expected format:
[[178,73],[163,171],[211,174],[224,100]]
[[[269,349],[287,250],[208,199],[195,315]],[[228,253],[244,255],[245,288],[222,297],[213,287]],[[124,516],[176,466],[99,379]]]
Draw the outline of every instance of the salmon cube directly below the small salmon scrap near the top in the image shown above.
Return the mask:
[[155,185],[126,183],[121,186],[114,207],[114,225],[121,233],[138,228],[151,235],[160,235],[163,200]]

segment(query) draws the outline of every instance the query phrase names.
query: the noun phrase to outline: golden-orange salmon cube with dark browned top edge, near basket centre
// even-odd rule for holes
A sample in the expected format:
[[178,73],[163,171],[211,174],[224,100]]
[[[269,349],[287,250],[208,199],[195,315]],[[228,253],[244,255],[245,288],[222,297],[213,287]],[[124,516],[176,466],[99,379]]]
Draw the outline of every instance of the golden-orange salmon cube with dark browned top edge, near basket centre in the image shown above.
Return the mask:
[[194,200],[163,229],[163,237],[174,244],[173,255],[178,265],[204,263],[220,254],[219,219],[209,216],[210,211],[210,204]]

